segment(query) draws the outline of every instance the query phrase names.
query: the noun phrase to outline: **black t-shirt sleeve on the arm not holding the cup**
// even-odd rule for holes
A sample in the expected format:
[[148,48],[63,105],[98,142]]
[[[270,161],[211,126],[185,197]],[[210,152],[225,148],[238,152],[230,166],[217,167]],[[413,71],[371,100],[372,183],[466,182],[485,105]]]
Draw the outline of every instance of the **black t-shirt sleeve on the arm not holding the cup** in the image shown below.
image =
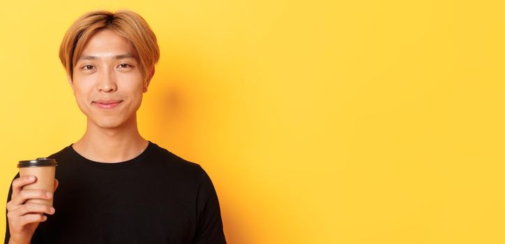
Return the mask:
[[193,243],[226,243],[218,195],[211,178],[202,170],[197,195],[197,229]]

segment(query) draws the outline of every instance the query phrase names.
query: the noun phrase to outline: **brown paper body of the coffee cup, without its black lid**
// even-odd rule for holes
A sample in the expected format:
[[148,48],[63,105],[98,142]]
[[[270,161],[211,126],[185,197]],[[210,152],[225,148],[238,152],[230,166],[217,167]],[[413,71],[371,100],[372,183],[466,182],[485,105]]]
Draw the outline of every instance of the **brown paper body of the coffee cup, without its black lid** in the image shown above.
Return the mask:
[[[35,183],[24,185],[23,189],[47,190],[54,193],[54,173],[56,166],[20,167],[20,176],[36,176]],[[54,195],[53,195],[54,196]],[[52,206],[51,199],[29,199],[27,202]]]

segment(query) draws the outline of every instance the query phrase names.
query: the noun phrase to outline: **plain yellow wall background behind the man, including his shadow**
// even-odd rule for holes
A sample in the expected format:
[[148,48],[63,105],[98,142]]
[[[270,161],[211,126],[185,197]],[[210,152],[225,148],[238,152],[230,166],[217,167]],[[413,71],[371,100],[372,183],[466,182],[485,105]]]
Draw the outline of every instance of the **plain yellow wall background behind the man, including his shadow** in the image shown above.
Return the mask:
[[229,243],[505,243],[501,2],[4,1],[0,195],[84,132],[68,26],[128,8],[161,49],[140,130],[206,169]]

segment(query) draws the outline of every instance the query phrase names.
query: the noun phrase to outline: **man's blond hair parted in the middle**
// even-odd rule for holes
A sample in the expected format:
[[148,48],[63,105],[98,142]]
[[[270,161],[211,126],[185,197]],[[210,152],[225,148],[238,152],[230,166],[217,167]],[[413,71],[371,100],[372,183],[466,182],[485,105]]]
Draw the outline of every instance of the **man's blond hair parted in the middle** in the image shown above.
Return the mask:
[[149,80],[160,59],[160,49],[149,24],[142,16],[130,10],[118,10],[115,13],[98,10],[85,13],[75,20],[65,33],[59,49],[59,59],[67,74],[73,79],[73,68],[84,45],[101,29],[110,29],[130,40],[137,51],[144,81]]

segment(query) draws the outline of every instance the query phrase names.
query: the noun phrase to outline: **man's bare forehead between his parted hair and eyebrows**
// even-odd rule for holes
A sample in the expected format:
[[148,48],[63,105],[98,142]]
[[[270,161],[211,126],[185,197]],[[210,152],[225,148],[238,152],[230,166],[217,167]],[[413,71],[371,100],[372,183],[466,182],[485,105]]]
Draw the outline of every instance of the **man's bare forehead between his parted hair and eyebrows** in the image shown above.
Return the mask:
[[79,58],[82,56],[96,56],[98,59],[105,59],[125,54],[135,56],[135,53],[135,47],[128,39],[114,31],[103,29],[89,38]]

